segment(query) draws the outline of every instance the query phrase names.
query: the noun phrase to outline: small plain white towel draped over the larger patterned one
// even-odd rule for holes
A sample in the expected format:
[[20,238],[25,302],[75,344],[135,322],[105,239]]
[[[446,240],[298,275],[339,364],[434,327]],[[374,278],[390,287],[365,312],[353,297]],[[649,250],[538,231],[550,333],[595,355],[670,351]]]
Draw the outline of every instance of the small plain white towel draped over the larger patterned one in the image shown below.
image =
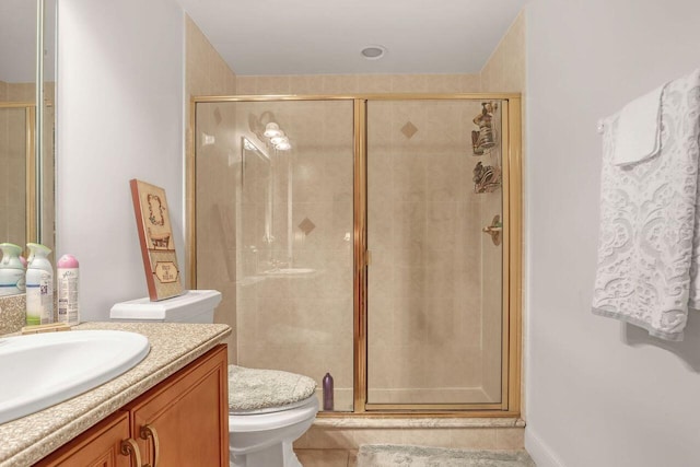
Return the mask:
[[615,165],[642,162],[661,149],[661,96],[665,85],[627,104],[620,110],[615,138]]

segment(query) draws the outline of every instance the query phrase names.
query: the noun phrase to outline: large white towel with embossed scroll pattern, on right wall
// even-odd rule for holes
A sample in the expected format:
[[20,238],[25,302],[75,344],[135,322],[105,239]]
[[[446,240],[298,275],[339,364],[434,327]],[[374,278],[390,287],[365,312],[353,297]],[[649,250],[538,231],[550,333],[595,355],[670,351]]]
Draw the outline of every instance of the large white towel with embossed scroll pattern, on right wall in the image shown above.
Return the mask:
[[682,340],[700,305],[700,69],[662,94],[658,157],[616,165],[619,113],[605,121],[593,313]]

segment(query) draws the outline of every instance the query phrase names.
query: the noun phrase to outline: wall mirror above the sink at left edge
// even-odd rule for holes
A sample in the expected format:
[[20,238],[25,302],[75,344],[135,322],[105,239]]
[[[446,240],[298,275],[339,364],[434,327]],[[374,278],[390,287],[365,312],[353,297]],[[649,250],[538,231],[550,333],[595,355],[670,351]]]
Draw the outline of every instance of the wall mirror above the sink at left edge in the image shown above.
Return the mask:
[[56,25],[57,0],[0,2],[0,243],[23,248],[55,245]]

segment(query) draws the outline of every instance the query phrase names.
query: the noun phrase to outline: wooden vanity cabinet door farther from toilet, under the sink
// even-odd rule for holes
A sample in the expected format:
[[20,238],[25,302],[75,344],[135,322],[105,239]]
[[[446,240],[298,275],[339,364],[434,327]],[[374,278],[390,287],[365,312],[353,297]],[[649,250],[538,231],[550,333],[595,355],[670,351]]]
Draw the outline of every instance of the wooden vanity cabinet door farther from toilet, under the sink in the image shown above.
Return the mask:
[[129,440],[129,413],[116,412],[43,458],[35,466],[137,467],[131,465],[128,454],[121,454],[121,443],[127,440]]

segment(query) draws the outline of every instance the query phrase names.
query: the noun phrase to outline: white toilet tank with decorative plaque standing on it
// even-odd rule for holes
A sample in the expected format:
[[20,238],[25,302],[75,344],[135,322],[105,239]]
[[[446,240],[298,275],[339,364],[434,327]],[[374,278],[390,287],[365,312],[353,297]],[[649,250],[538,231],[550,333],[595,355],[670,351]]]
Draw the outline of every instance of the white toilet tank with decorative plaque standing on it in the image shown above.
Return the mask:
[[172,299],[151,302],[147,296],[117,303],[109,312],[116,322],[213,323],[214,308],[221,302],[218,290],[188,290]]

